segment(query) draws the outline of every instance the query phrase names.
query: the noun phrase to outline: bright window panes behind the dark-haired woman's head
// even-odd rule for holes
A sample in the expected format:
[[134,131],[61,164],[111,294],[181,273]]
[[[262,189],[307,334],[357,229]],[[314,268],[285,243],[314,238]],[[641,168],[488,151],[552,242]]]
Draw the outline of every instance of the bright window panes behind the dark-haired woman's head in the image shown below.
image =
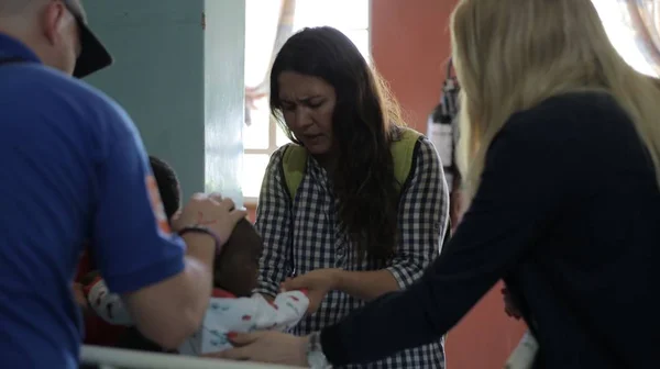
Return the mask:
[[[267,79],[282,1],[245,1],[245,86]],[[293,31],[329,25],[343,32],[369,60],[370,0],[297,0]],[[267,97],[254,101],[250,124],[243,128],[243,175],[241,186],[246,202],[255,202],[268,158],[289,139],[271,119]]]

